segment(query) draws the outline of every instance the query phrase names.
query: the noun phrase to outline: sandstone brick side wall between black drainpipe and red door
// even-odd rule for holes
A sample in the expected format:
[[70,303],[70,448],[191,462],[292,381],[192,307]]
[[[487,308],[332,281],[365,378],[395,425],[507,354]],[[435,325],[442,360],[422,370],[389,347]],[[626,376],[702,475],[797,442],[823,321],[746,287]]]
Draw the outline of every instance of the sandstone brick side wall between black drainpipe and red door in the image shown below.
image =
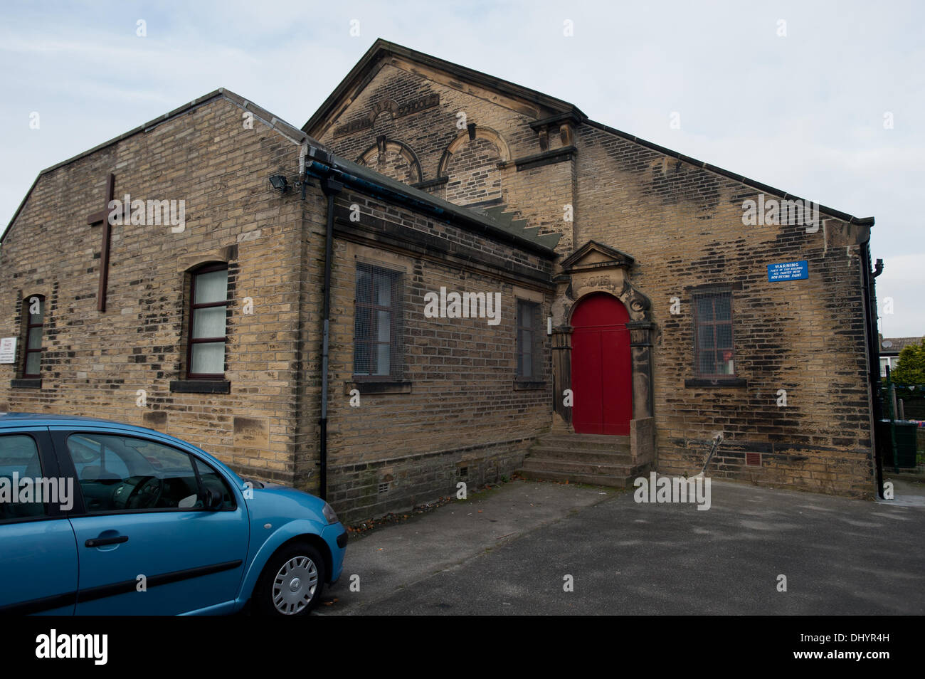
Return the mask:
[[[353,204],[360,207],[359,222],[350,220]],[[510,475],[536,434],[549,428],[545,318],[551,287],[539,282],[549,277],[549,260],[514,256],[510,247],[485,237],[349,191],[338,197],[337,215],[328,499],[346,519],[360,520],[450,495],[459,481],[481,485]],[[380,237],[387,230],[404,232],[410,245],[423,233],[438,241],[424,250],[405,249]],[[314,229],[311,250],[323,252],[323,236],[322,228]],[[438,254],[438,247],[447,252]],[[524,259],[517,269],[523,273],[516,274],[512,263]],[[402,279],[401,377],[406,384],[382,393],[364,392],[353,378],[358,263],[388,268]],[[486,318],[426,317],[425,294],[441,287],[499,292],[499,324],[489,325]],[[516,382],[518,298],[539,303],[544,319],[537,327],[542,372],[529,384]],[[359,406],[351,406],[352,389],[361,391]]]

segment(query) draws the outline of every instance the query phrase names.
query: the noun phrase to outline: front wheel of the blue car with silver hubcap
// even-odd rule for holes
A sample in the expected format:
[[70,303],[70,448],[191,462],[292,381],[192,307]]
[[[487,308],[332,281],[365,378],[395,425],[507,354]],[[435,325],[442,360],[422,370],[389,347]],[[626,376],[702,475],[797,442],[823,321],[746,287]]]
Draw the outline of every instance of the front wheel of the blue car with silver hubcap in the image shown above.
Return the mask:
[[317,549],[298,542],[266,562],[253,589],[253,610],[264,615],[307,615],[321,599],[325,562]]

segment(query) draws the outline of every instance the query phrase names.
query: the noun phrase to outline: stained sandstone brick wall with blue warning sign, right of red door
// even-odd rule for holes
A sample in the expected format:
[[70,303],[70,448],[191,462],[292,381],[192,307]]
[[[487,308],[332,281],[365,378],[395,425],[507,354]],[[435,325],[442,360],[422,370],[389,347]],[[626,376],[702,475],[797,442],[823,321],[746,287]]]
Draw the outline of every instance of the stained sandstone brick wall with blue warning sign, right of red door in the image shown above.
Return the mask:
[[[578,241],[635,257],[633,284],[652,301],[658,464],[698,471],[709,438],[727,438],[714,474],[870,495],[870,402],[859,232],[826,219],[744,226],[759,191],[583,126]],[[767,198],[773,198],[767,194]],[[767,265],[808,261],[809,278],[769,282]],[[733,286],[736,374],[746,387],[685,387],[696,377],[692,289]],[[672,315],[671,298],[681,300]],[[785,389],[786,407],[778,406]],[[746,465],[746,451],[761,453]],[[753,460],[758,462],[758,460]]]

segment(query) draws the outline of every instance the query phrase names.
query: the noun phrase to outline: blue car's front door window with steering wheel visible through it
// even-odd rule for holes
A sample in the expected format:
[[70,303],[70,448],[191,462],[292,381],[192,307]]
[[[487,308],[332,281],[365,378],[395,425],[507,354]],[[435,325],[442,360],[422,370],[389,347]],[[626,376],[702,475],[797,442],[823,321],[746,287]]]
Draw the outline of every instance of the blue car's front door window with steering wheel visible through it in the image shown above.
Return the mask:
[[146,438],[68,437],[87,512],[201,508],[191,456]]

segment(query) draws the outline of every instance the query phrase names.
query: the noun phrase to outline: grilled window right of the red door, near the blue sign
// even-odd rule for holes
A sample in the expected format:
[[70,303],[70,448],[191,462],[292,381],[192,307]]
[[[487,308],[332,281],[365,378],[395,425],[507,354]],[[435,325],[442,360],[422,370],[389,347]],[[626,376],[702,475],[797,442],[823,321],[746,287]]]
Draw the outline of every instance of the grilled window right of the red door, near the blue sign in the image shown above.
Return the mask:
[[697,376],[734,377],[733,293],[694,295]]

